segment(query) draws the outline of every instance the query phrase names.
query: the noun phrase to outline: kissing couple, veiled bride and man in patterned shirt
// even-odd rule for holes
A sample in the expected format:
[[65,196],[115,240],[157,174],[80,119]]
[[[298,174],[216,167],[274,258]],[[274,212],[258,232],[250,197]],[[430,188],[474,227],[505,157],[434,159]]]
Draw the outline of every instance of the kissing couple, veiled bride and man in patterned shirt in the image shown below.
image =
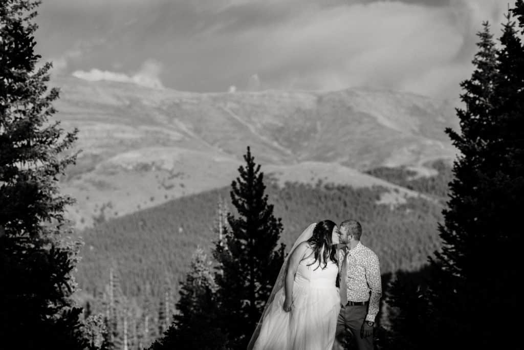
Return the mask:
[[[346,220],[311,224],[284,260],[248,350],[373,350],[382,286],[377,255]],[[340,288],[336,287],[339,280]]]

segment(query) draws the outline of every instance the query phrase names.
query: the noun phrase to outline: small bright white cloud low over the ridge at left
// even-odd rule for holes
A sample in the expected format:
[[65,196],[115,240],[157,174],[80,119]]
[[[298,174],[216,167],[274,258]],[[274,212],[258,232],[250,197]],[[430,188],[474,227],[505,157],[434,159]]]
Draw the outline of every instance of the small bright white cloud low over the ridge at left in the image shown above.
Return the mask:
[[160,81],[161,70],[162,66],[158,61],[147,60],[142,64],[140,70],[133,75],[102,71],[99,69],[91,69],[89,72],[78,70],[74,71],[72,75],[76,78],[89,81],[107,80],[122,83],[134,83],[154,89],[163,89],[162,82]]

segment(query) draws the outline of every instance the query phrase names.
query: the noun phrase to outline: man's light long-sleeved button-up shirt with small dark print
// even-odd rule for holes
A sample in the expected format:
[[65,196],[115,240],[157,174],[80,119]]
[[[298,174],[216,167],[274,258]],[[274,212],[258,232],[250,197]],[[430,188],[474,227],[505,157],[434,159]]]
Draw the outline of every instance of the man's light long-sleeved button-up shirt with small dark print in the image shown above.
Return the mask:
[[[339,250],[339,270],[342,271],[342,260],[346,246]],[[378,313],[382,282],[378,257],[373,250],[358,242],[347,254],[347,300],[368,301],[366,321],[375,322]]]

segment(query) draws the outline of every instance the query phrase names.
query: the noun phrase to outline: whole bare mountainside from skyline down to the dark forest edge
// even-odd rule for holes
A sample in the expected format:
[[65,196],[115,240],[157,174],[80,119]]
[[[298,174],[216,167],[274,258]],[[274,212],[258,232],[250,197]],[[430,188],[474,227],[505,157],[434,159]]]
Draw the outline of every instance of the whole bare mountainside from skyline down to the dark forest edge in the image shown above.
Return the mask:
[[62,90],[55,117],[80,129],[83,151],[62,181],[78,199],[70,217],[79,227],[93,216],[120,216],[227,185],[248,145],[276,177],[352,185],[385,185],[358,172],[420,168],[455,154],[443,132],[457,127],[452,105],[413,94],[199,94],[76,78],[52,85]]

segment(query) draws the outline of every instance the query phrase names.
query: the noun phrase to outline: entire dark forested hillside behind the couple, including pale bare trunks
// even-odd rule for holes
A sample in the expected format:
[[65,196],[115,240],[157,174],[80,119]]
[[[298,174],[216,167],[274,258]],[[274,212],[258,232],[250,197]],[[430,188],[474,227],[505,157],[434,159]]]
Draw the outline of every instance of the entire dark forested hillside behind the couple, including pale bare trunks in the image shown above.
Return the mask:
[[[426,194],[406,197],[406,203],[396,205],[379,204],[381,195],[391,189],[377,186],[355,189],[287,182],[279,187],[269,177],[265,182],[275,215],[282,218],[281,238],[288,249],[313,221],[357,218],[364,227],[363,243],[376,251],[383,275],[390,276],[388,272],[418,270],[440,246],[439,194],[447,187],[450,171],[441,162],[434,168],[439,170],[436,176],[419,178],[405,168],[371,171]],[[111,325],[115,339],[122,337],[125,317],[136,323],[130,332],[138,343],[149,344],[165,331],[170,315],[177,312],[179,284],[196,247],[210,253],[219,239],[219,203],[222,215],[233,209],[229,192],[226,187],[186,196],[100,222],[81,233],[85,245],[78,266],[83,290],[79,298],[89,302],[90,312],[116,315]]]

